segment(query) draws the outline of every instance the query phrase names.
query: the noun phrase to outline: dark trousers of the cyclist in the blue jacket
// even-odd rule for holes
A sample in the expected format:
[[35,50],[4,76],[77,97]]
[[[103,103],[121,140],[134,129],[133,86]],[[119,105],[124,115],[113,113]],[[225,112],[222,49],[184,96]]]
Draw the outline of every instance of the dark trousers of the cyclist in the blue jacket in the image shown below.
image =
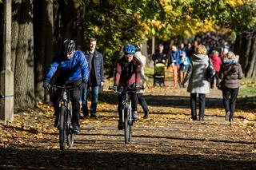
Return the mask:
[[[67,86],[72,85],[79,85],[81,83],[81,80],[73,81],[70,83],[66,83]],[[58,84],[60,85],[60,84]],[[63,84],[62,84],[63,85]],[[62,91],[57,90],[54,93],[53,103],[54,103],[54,115],[58,118],[58,100],[61,95]],[[74,89],[70,90],[70,101],[72,103],[72,124],[79,125],[79,118],[80,118],[80,97],[81,97],[81,90]]]

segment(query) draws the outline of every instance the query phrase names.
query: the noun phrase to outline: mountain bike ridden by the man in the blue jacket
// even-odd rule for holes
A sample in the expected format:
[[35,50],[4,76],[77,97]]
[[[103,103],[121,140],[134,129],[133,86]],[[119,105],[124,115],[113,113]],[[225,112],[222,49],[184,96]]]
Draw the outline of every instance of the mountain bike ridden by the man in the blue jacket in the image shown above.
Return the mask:
[[71,148],[74,144],[74,132],[71,124],[72,105],[70,102],[70,91],[78,89],[77,86],[58,86],[52,85],[55,92],[60,90],[61,95],[58,100],[58,135],[61,150],[66,148],[66,144]]

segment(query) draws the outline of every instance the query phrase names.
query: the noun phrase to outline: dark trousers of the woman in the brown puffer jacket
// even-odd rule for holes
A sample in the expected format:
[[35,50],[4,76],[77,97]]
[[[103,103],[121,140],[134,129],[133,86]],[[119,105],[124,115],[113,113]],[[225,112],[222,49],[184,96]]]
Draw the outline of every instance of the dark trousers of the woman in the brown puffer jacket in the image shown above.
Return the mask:
[[222,89],[223,105],[226,113],[230,112],[230,118],[234,117],[235,102],[238,98],[239,88]]

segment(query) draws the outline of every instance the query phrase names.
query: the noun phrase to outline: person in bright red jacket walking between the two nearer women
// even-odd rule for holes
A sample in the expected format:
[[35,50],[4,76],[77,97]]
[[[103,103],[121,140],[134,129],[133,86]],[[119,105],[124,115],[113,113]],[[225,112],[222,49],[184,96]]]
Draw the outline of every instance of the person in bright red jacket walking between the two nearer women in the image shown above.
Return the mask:
[[216,86],[217,86],[219,83],[218,74],[222,65],[222,59],[218,57],[218,51],[216,50],[213,51],[213,55],[210,57],[210,61],[213,63],[214,69],[215,69],[215,75],[214,77],[212,77],[210,81],[210,88],[214,89],[214,79],[216,79]]

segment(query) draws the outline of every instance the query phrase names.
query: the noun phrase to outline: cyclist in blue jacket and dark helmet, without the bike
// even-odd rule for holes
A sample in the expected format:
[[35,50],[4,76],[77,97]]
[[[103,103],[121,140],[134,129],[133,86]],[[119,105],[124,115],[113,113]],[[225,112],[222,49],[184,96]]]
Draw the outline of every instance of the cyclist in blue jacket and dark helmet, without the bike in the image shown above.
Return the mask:
[[[73,40],[67,39],[63,43],[62,51],[54,56],[54,60],[46,73],[43,81],[43,88],[49,91],[51,88],[50,80],[54,73],[58,70],[58,75],[55,81],[56,85],[78,86],[78,89],[70,91],[70,100],[72,102],[73,116],[72,125],[74,132],[79,132],[79,117],[80,117],[80,97],[81,89],[86,85],[89,75],[89,67],[86,57],[82,51],[75,50]],[[54,115],[56,117],[54,126],[58,126],[58,97],[60,92],[54,93]]]

